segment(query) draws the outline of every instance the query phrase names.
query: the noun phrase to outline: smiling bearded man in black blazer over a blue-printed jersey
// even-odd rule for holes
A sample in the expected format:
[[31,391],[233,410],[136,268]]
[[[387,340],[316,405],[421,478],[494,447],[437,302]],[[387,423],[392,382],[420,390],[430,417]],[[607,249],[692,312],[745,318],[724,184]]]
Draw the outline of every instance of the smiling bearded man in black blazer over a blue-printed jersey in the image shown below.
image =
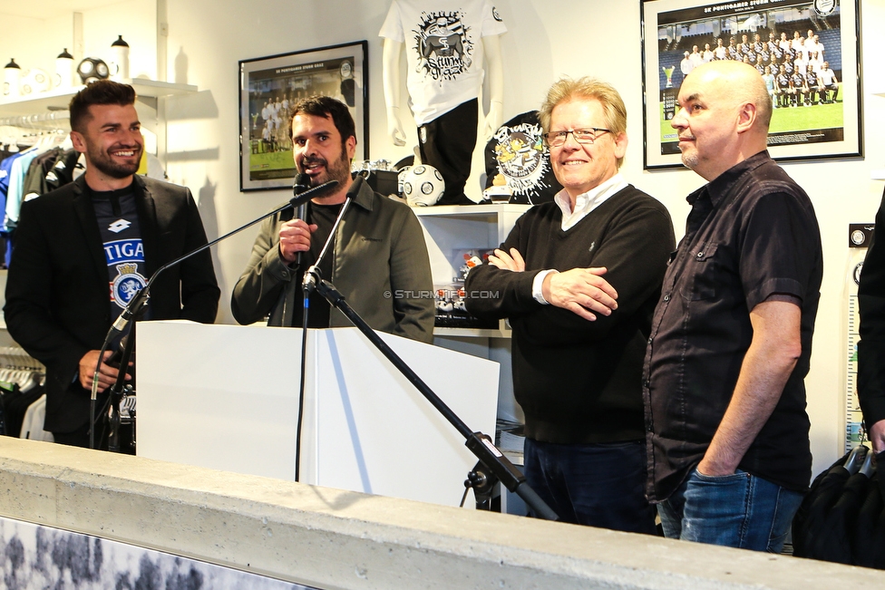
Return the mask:
[[[154,271],[206,243],[189,189],[135,176],[143,140],[134,102],[131,86],[111,81],[73,97],[71,138],[86,172],[25,202],[15,230],[6,325],[46,365],[44,429],[64,444],[88,444],[92,379],[113,321]],[[219,295],[207,250],[157,278],[145,316],[210,323]],[[118,375],[111,355],[100,392]]]

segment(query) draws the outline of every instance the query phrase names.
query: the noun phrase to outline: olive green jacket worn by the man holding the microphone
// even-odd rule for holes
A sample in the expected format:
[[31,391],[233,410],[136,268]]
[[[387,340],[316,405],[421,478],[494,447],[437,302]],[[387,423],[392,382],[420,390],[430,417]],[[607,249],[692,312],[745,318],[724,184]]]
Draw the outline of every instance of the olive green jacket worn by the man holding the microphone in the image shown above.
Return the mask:
[[[240,324],[268,317],[268,325],[292,325],[302,305],[297,264],[279,254],[279,227],[291,218],[277,214],[261,225],[252,256],[230,299]],[[423,231],[412,210],[363,184],[336,231],[334,262],[327,278],[375,330],[433,342],[433,279]],[[350,321],[337,309],[332,326]]]

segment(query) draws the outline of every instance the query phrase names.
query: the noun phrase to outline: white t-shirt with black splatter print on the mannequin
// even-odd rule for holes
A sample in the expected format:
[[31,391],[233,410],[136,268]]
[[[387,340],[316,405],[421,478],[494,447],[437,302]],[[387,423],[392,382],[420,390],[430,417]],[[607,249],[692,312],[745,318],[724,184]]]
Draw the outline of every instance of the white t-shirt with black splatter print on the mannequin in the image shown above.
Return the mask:
[[405,46],[417,125],[479,96],[482,37],[506,32],[489,0],[393,0],[379,36]]

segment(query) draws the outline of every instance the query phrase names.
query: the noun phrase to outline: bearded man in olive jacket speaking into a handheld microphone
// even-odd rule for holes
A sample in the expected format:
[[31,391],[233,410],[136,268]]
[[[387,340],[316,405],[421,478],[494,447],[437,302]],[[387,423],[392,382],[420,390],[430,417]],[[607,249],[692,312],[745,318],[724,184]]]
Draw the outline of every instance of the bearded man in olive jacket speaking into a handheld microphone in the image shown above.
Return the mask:
[[[311,186],[337,180],[313,198],[306,219],[291,209],[267,219],[252,247],[246,271],[231,296],[240,324],[268,317],[268,325],[301,326],[302,280],[316,262],[345,199],[353,201],[320,264],[323,278],[375,330],[433,342],[433,280],[423,232],[412,210],[354,182],[350,161],[355,125],[344,103],[323,96],[299,102],[292,116],[292,151]],[[308,327],[350,325],[344,314],[311,296]]]

